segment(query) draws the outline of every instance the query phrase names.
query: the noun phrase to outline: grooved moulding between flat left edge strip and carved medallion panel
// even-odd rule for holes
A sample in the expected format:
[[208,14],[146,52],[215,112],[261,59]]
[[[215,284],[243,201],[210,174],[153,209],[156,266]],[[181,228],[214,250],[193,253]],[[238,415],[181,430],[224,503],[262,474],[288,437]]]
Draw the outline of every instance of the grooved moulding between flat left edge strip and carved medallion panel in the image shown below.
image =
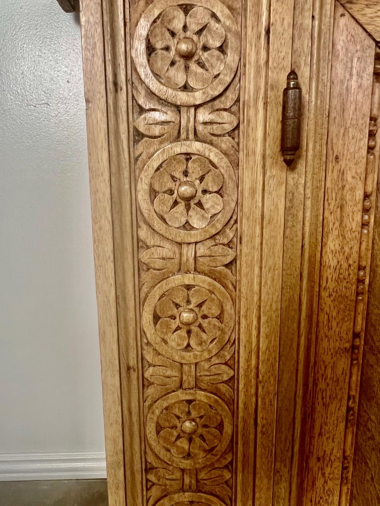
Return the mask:
[[[128,3],[127,3],[128,4]],[[128,10],[128,5],[126,9]],[[124,423],[127,504],[143,506],[145,496],[137,223],[133,164],[132,89],[129,31],[123,0],[103,1],[111,204],[115,241],[116,293]],[[127,25],[128,30],[128,25]],[[127,64],[128,62],[128,64]]]

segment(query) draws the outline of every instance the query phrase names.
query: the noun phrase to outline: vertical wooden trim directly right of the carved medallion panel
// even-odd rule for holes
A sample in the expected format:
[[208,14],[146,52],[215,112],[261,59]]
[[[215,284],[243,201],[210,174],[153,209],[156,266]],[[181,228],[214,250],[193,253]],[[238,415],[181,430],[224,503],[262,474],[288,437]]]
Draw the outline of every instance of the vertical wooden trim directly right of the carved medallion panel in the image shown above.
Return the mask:
[[[261,304],[263,178],[267,135],[270,5],[244,0],[242,27],[240,181],[237,261],[238,401],[235,416],[234,504],[254,504]],[[254,48],[254,51],[252,51]],[[247,104],[245,97],[250,97]],[[253,416],[248,417],[251,412]]]

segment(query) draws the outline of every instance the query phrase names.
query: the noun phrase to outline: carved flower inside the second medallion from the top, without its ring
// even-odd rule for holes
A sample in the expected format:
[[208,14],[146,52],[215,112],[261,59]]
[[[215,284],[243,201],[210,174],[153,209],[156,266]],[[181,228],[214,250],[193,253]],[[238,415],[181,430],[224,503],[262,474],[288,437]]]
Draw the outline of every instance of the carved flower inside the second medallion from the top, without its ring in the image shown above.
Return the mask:
[[223,208],[222,197],[215,193],[223,184],[223,176],[203,156],[193,156],[188,162],[181,155],[168,158],[150,184],[158,192],[156,212],[172,227],[187,222],[194,228],[204,228]]

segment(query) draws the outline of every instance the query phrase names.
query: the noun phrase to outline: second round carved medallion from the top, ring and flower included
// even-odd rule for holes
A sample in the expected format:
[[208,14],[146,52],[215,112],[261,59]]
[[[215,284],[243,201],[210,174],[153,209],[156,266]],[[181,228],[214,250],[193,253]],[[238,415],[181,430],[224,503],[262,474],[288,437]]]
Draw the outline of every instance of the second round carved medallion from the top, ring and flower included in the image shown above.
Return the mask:
[[176,242],[198,242],[231,218],[237,182],[227,158],[212,146],[180,141],[156,153],[137,183],[149,225]]

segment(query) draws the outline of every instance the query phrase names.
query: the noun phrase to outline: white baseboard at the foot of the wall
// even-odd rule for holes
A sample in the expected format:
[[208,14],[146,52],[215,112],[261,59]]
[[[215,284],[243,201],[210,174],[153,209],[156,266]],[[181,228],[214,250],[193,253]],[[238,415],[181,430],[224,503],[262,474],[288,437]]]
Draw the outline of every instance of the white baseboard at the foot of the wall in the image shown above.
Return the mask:
[[106,477],[104,452],[0,453],[0,481]]

